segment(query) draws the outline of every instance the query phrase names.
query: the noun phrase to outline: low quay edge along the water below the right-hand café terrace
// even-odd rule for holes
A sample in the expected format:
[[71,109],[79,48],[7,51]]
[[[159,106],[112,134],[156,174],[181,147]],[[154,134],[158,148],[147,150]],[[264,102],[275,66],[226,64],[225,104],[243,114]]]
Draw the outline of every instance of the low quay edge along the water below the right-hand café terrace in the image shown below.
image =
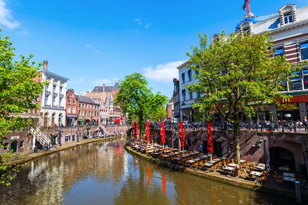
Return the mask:
[[[156,163],[157,165],[160,165],[160,166],[172,169],[172,170],[177,170],[177,171],[184,172],[184,173],[187,173],[187,174],[204,177],[204,178],[207,178],[207,179],[223,182],[223,183],[226,183],[228,185],[233,185],[233,186],[236,186],[236,187],[241,187],[241,188],[252,190],[252,191],[264,192],[264,193],[270,193],[270,194],[275,194],[275,195],[281,195],[281,196],[285,196],[285,197],[296,198],[295,186],[294,186],[294,190],[284,189],[284,188],[281,188],[281,187],[278,187],[278,186],[267,185],[267,184],[264,184],[264,183],[260,184],[260,183],[251,182],[251,181],[244,180],[244,179],[237,178],[237,177],[225,176],[225,175],[217,174],[215,172],[206,172],[206,171],[202,171],[202,170],[199,170],[199,169],[191,169],[191,168],[184,167],[184,166],[172,165],[168,161],[156,159],[156,158],[141,154],[140,152],[134,151],[129,146],[125,146],[125,149],[127,150],[127,152],[129,152],[133,155],[137,155],[140,158],[143,158],[145,160]],[[302,195],[303,201],[308,201],[308,193],[302,192],[301,195]]]

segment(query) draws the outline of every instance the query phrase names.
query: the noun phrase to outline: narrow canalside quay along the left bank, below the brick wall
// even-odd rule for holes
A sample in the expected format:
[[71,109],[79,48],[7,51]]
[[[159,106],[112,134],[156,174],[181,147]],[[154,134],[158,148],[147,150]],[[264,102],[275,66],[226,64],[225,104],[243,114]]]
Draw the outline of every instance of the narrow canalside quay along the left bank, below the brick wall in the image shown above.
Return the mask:
[[80,140],[79,142],[76,141],[71,141],[71,142],[66,142],[65,144],[62,144],[61,147],[57,146],[57,148],[55,150],[50,150],[50,151],[39,151],[37,153],[33,153],[32,150],[26,151],[25,155],[23,155],[22,152],[17,152],[17,153],[13,153],[12,158],[16,158],[13,159],[10,163],[10,165],[12,166],[17,166],[17,165],[22,165],[23,163],[36,159],[38,157],[42,157],[45,155],[49,155],[55,152],[60,152],[63,150],[67,150],[73,147],[77,147],[77,146],[81,146],[81,145],[85,145],[85,144],[89,144],[95,141],[103,141],[103,140],[109,140],[109,139],[114,139],[114,138],[119,138],[122,136],[113,136],[113,137],[106,137],[106,138],[94,138],[94,139],[83,139]]

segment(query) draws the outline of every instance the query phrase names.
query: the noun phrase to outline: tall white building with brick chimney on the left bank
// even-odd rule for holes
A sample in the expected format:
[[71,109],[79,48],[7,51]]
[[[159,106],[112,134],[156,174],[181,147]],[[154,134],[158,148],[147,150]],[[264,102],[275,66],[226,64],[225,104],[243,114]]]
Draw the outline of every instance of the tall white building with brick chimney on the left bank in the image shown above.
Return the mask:
[[65,125],[66,89],[68,78],[47,71],[48,61],[44,60],[44,70],[40,70],[42,81],[49,84],[42,93],[41,112],[44,126]]

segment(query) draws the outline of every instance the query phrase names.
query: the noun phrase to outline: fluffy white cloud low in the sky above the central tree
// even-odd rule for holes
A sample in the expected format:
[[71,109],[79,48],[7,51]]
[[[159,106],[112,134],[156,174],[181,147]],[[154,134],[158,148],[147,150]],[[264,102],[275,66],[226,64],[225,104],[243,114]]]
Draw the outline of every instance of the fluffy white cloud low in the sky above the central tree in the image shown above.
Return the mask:
[[179,71],[177,67],[185,62],[186,60],[178,60],[167,64],[160,64],[155,68],[149,66],[144,68],[144,76],[152,80],[170,82],[173,78],[179,78]]

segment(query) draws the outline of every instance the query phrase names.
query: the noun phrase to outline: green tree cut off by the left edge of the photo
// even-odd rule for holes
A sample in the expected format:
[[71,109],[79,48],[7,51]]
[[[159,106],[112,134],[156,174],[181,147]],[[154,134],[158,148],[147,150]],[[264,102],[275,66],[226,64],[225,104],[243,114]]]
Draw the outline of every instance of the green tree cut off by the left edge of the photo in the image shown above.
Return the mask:
[[[0,29],[1,32],[2,29]],[[33,78],[39,74],[38,67],[42,63],[30,62],[33,57],[20,55],[20,60],[15,60],[15,48],[9,37],[2,38],[0,34],[0,147],[3,147],[5,134],[9,130],[28,127],[31,119],[21,118],[18,114],[36,109],[39,104],[34,103],[37,96],[43,91],[43,84],[36,83]],[[0,161],[0,183],[10,185],[14,177],[10,174],[15,168],[10,166],[11,154],[4,154]]]

